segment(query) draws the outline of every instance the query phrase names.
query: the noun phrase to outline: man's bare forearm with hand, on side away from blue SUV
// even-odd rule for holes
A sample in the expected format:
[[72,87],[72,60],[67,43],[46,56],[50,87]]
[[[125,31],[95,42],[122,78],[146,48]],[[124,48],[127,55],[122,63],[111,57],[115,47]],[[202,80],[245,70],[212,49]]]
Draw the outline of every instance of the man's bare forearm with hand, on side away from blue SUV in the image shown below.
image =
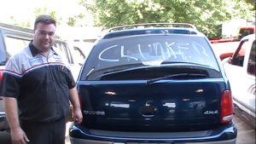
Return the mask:
[[11,130],[13,143],[26,144],[29,141],[25,132],[20,128],[17,100],[13,97],[3,97],[6,118]]

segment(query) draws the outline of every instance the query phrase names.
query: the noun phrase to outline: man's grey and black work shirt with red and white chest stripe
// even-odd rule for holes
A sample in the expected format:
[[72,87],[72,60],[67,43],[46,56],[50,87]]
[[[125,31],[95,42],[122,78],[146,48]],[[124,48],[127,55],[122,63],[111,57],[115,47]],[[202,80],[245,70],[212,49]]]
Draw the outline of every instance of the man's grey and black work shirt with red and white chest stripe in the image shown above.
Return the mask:
[[2,95],[18,101],[21,120],[50,122],[70,114],[73,75],[53,49],[48,57],[29,44],[11,57],[3,71]]

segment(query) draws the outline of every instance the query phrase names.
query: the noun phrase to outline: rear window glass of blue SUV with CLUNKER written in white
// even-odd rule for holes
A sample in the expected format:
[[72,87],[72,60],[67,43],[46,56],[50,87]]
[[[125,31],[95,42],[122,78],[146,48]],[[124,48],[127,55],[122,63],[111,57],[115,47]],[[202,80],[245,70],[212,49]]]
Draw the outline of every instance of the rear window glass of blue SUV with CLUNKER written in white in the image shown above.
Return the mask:
[[219,71],[217,60],[204,37],[144,35],[103,39],[92,49],[83,73],[89,76],[93,72],[113,71],[113,67],[159,67],[170,63],[194,63]]

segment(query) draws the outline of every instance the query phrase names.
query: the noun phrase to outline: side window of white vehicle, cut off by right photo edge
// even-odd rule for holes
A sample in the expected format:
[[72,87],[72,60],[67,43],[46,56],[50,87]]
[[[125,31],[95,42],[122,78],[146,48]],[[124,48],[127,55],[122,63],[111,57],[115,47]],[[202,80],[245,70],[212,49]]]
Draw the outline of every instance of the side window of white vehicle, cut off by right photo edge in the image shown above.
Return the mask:
[[256,52],[255,52],[255,48],[256,48],[256,42],[254,41],[253,42],[253,45],[252,45],[252,49],[251,49],[251,52],[250,52],[250,56],[249,56],[249,60],[248,60],[248,66],[247,66],[247,72],[248,74],[250,75],[253,75],[255,76],[255,58],[256,58]]

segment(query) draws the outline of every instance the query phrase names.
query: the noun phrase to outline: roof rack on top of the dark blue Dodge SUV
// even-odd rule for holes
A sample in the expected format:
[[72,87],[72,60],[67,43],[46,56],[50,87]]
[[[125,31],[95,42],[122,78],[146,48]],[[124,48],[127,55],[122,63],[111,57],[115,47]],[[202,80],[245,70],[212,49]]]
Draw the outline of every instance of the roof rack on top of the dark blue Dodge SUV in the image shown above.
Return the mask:
[[108,32],[134,29],[134,28],[146,28],[146,27],[153,27],[153,26],[154,27],[186,27],[186,28],[196,29],[196,27],[194,25],[188,24],[188,23],[145,23],[145,24],[115,26],[115,27],[108,29]]

